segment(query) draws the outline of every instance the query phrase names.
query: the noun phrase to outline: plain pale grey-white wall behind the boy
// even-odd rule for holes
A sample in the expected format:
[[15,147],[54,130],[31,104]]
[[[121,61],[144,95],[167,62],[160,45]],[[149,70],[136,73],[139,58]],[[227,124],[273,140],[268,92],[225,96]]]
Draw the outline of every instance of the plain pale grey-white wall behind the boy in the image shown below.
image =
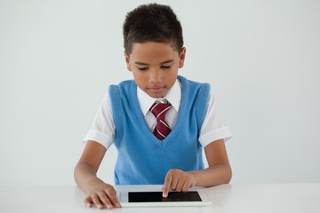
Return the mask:
[[[148,1],[0,0],[0,185],[74,185],[82,138]],[[184,28],[180,75],[212,84],[232,183],[320,182],[320,2],[158,1]],[[99,175],[113,184],[116,149]]]

